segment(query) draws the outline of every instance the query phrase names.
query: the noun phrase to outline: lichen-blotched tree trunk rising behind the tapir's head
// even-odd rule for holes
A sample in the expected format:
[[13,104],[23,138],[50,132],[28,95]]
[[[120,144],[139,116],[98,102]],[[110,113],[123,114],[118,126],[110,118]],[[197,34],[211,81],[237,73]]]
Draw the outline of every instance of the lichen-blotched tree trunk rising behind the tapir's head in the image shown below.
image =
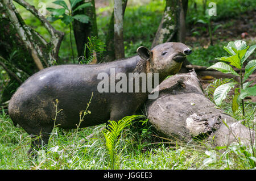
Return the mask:
[[185,41],[185,17],[188,0],[166,0],[163,18],[151,48],[168,41]]

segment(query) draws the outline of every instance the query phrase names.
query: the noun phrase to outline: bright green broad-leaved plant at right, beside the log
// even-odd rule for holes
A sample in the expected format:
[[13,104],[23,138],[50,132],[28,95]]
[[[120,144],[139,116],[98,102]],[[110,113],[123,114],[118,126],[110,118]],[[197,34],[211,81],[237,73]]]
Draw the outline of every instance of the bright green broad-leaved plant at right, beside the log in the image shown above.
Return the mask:
[[256,69],[256,60],[251,60],[245,66],[245,73],[242,73],[242,67],[247,58],[251,53],[254,52],[256,45],[251,47],[246,45],[245,41],[237,40],[230,41],[228,46],[224,47],[226,52],[228,52],[231,56],[229,57],[220,57],[216,58],[217,60],[229,62],[230,65],[236,67],[240,70],[240,73],[237,73],[232,66],[224,63],[217,62],[216,64],[210,66],[208,69],[215,69],[221,71],[222,73],[230,73],[240,77],[240,82],[228,82],[221,86],[218,86],[216,90],[214,90],[213,99],[217,106],[220,106],[222,100],[226,98],[228,92],[236,85],[239,87],[236,88],[233,96],[232,110],[236,112],[240,104],[242,104],[242,112],[243,116],[245,116],[245,106],[243,103],[243,99],[246,96],[256,96],[256,85],[253,87],[249,87],[252,82],[245,82],[247,78],[249,78],[250,74]]

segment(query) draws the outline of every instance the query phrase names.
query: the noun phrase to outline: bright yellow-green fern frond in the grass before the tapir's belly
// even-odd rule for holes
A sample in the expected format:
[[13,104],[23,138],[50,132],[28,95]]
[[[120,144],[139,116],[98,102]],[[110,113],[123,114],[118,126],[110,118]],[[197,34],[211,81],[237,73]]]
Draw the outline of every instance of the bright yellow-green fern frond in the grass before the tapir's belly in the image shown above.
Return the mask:
[[114,169],[115,160],[117,158],[117,147],[119,145],[119,138],[123,129],[131,125],[131,122],[135,119],[142,118],[144,116],[133,115],[126,116],[119,121],[109,121],[108,127],[103,130],[104,137],[106,139],[106,148],[110,157],[110,168]]

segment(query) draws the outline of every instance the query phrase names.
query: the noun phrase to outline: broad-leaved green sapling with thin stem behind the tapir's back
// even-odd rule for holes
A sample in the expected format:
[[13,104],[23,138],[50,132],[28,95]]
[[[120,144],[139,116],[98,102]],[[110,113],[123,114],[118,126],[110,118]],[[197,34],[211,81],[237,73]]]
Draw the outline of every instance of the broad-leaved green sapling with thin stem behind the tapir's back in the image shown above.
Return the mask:
[[58,19],[61,20],[61,22],[65,23],[66,25],[69,25],[69,39],[71,43],[71,50],[72,50],[72,58],[73,63],[75,64],[75,58],[74,58],[74,52],[73,52],[73,46],[72,46],[72,22],[73,20],[78,20],[81,23],[88,23],[89,22],[89,16],[86,16],[84,14],[76,14],[73,15],[74,12],[80,9],[84,9],[85,7],[92,6],[90,2],[82,3],[81,5],[77,6],[77,3],[81,2],[82,0],[69,0],[69,6],[65,1],[58,0],[54,1],[56,5],[60,5],[63,8],[54,9],[51,7],[48,7],[47,10],[52,12],[51,16],[49,16],[47,19],[51,22],[54,22]]

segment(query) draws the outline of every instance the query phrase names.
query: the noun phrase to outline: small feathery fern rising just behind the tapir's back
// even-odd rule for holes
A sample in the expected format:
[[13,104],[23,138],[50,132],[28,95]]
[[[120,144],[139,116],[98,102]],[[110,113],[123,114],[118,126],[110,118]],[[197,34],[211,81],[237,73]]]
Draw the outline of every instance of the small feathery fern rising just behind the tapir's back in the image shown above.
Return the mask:
[[[97,36],[88,37],[88,43],[84,46],[84,56],[80,61],[81,64],[89,64],[94,58],[101,59],[102,52],[104,52],[106,45]],[[88,52],[86,53],[86,50]],[[88,56],[87,56],[88,54]]]

